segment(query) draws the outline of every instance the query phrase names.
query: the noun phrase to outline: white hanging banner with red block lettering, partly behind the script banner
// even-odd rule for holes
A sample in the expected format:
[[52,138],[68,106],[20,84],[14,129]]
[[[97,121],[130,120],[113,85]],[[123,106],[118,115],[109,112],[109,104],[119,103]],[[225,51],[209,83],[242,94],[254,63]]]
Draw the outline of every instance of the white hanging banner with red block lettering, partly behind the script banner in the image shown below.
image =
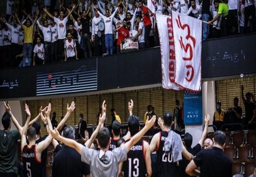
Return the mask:
[[[151,0],[150,0],[151,1]],[[162,61],[162,87],[180,90],[175,81],[175,50],[172,17],[156,14]]]

